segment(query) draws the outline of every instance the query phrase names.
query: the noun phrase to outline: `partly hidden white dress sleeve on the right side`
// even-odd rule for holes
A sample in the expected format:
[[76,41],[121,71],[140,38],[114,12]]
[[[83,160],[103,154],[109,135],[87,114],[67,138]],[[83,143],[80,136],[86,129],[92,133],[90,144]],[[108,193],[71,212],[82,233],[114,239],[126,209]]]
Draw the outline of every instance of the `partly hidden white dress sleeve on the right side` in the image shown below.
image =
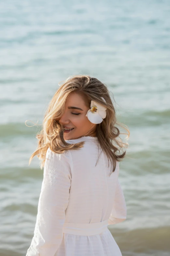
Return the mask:
[[[118,170],[118,175],[119,175],[119,170]],[[112,224],[116,224],[124,221],[126,219],[126,215],[127,215],[126,202],[125,202],[123,190],[121,188],[120,181],[118,178],[114,203],[113,203],[112,211],[108,220],[108,225],[112,225]]]

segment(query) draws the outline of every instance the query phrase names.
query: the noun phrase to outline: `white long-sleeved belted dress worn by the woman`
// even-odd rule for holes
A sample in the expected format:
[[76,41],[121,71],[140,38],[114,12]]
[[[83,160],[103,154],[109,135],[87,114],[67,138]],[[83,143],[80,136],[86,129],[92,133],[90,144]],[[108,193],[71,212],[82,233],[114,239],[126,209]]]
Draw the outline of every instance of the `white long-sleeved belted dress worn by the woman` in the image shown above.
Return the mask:
[[[26,256],[121,256],[108,225],[126,219],[126,203],[117,162],[110,167],[97,137],[78,150],[56,154],[48,148],[34,237]],[[100,152],[100,147],[99,147]]]

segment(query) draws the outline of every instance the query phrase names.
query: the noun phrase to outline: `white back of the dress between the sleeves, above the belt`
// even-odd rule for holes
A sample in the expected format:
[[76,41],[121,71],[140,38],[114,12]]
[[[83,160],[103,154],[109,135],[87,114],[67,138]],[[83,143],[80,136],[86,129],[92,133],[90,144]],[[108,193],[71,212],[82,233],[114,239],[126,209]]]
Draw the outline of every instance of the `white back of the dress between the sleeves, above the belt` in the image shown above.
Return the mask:
[[[84,141],[79,150],[70,150],[73,167],[66,222],[95,223],[109,218],[118,182],[119,163],[109,177],[111,167],[104,152],[98,159],[96,137],[87,136],[74,141]],[[68,141],[67,141],[68,142]],[[99,153],[101,148],[99,148]]]

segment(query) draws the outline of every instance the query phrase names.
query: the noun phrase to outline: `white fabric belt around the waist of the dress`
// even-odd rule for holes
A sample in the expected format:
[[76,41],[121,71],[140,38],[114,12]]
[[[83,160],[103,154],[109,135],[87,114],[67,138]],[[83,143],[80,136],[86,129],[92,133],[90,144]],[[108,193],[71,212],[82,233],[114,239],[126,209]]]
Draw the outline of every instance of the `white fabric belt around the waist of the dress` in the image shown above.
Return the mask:
[[63,233],[73,235],[97,235],[107,230],[108,219],[96,223],[64,222]]

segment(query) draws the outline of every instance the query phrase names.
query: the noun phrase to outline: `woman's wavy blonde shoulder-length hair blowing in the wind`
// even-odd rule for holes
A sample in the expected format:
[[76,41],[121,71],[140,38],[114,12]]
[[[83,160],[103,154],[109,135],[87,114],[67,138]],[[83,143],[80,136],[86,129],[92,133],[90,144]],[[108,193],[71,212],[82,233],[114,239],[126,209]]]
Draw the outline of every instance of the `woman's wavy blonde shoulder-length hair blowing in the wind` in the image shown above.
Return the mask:
[[[65,150],[78,150],[79,148],[83,147],[85,143],[84,141],[76,144],[69,144],[65,142],[63,136],[64,126],[58,121],[64,114],[65,102],[69,94],[72,92],[76,92],[77,94],[81,95],[89,109],[91,100],[94,100],[107,108],[106,118],[103,119],[102,123],[97,124],[96,136],[98,138],[98,149],[100,145],[101,153],[104,151],[107,156],[108,166],[109,162],[111,162],[111,173],[114,172],[116,168],[116,161],[120,162],[126,154],[126,151],[121,154],[120,150],[129,145],[128,143],[123,143],[119,135],[127,134],[126,139],[128,140],[130,132],[126,125],[123,125],[117,121],[116,110],[110,97],[111,92],[108,91],[107,86],[97,78],[87,75],[68,77],[64,83],[60,85],[59,89],[50,100],[44,115],[42,129],[36,134],[38,145],[29,159],[29,165],[33,157],[37,155],[37,157],[41,160],[40,168],[42,169],[44,167],[48,147],[50,147],[50,150],[53,152],[59,154],[63,153]],[[101,99],[101,97],[106,100],[106,103]],[[25,124],[27,121],[29,120],[26,120]],[[124,128],[127,133],[120,133],[117,125]],[[117,154],[117,152],[119,152],[119,154]],[[97,162],[100,155],[98,151]]]

